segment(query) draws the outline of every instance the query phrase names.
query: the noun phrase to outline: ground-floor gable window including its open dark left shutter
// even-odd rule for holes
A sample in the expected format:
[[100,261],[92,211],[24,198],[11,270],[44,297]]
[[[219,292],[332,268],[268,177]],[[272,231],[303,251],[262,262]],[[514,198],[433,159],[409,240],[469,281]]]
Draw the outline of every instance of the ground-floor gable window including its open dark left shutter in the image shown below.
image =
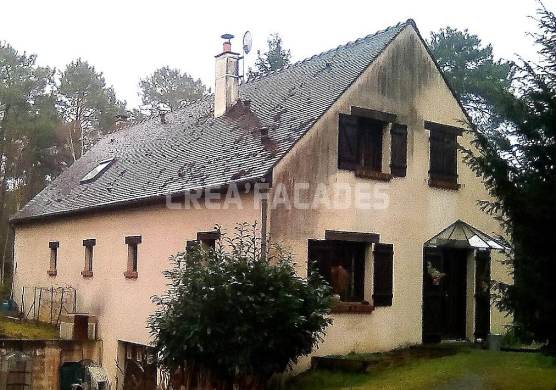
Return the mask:
[[343,302],[364,300],[366,243],[309,240],[309,267],[316,269]]

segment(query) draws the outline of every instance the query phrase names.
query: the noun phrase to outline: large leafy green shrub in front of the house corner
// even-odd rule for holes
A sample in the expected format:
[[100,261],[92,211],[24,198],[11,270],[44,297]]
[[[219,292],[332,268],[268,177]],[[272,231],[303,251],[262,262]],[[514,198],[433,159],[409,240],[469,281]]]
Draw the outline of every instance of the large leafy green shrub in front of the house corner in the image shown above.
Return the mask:
[[210,388],[265,387],[310,354],[331,323],[326,283],[299,277],[279,245],[262,253],[256,233],[242,224],[216,250],[196,245],[170,258],[150,328],[159,363],[180,372],[183,386],[201,385],[202,374]]

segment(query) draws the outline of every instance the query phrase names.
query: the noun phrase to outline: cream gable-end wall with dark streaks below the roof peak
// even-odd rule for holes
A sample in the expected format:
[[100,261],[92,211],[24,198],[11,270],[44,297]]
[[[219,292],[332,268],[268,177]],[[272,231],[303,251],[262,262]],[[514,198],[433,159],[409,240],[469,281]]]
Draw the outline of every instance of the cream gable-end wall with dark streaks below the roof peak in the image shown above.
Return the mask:
[[[337,169],[338,115],[350,113],[351,106],[395,113],[398,121],[408,126],[406,177],[384,183]],[[477,200],[487,199],[488,194],[481,180],[463,164],[461,155],[460,190],[428,186],[429,132],[424,129],[425,120],[461,127],[465,117],[418,35],[407,27],[274,169],[274,188],[281,183],[288,192],[299,182],[309,183],[311,189],[324,183],[329,194],[335,183],[352,188],[369,183],[381,186],[380,191],[388,194],[389,205],[384,210],[322,206],[296,210],[283,205],[270,210],[270,234],[291,246],[302,274],[306,273],[307,240],[324,239],[326,229],[379,233],[381,242],[394,244],[393,306],[377,308],[372,314],[333,315],[334,325],[327,330],[318,354],[420,343],[423,243],[457,219],[486,233],[500,232],[499,225],[478,208]],[[470,136],[465,134],[458,141],[469,146]],[[270,199],[274,196],[271,190]],[[496,262],[493,275],[507,277]],[[372,279],[368,271],[365,276],[368,291]],[[497,327],[508,321],[501,318],[503,315],[493,313]],[[308,359],[301,366],[306,364]]]

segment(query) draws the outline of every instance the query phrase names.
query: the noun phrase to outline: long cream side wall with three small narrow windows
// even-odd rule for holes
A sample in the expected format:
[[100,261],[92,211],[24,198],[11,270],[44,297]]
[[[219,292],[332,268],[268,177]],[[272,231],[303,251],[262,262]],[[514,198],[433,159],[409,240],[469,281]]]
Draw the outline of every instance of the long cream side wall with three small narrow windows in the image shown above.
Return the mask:
[[[168,257],[185,249],[198,231],[210,231],[220,224],[229,233],[236,223],[260,222],[261,211],[253,207],[252,194],[242,195],[243,209],[202,208],[173,210],[166,205],[98,213],[79,218],[16,226],[15,261],[17,270],[14,297],[21,289],[71,285],[77,289],[77,310],[98,316],[98,337],[103,339],[103,366],[114,382],[117,340],[148,344],[146,319],[155,309],[152,295],[166,290],[162,271]],[[212,200],[212,203],[217,203]],[[202,201],[200,201],[203,206]],[[141,235],[138,249],[138,278],[126,279],[125,237]],[[84,239],[96,239],[93,277],[83,278]],[[58,274],[49,277],[49,241],[59,241]]]

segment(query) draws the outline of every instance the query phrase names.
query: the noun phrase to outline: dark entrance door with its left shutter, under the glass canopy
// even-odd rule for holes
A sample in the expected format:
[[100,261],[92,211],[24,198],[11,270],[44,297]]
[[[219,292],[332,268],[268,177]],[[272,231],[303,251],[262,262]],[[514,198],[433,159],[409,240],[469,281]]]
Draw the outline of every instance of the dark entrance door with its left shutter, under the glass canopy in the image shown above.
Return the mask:
[[424,248],[424,343],[465,338],[467,255],[466,249]]

